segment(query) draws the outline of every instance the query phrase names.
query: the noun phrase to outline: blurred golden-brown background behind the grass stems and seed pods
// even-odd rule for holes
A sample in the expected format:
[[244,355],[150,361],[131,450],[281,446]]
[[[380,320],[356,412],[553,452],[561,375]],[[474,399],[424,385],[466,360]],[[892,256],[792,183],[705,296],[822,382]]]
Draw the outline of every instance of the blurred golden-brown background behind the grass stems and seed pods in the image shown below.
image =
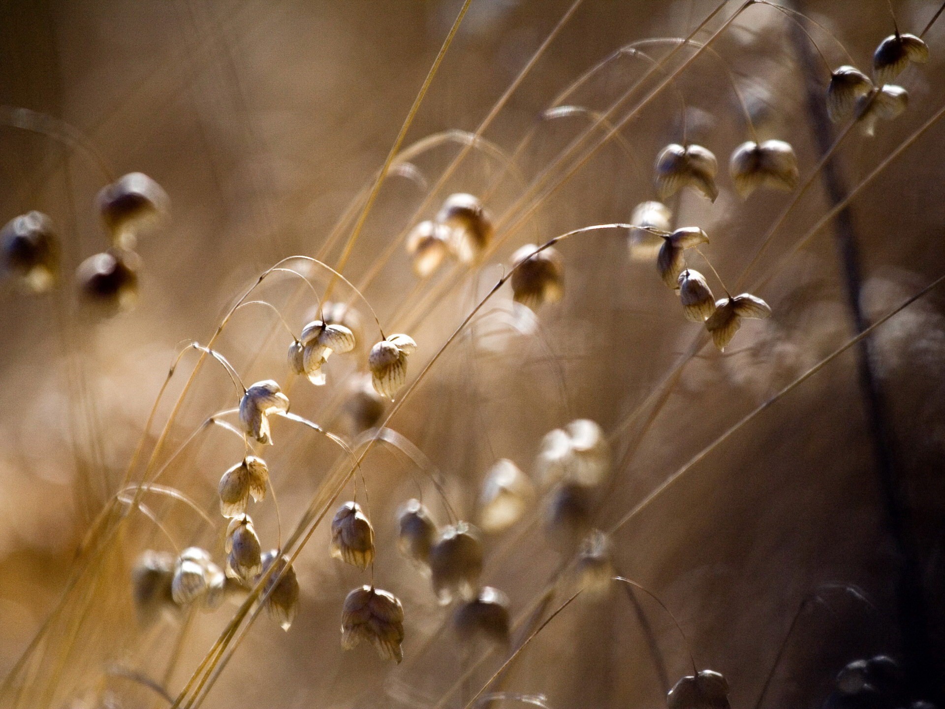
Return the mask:
[[[893,32],[881,0],[782,4],[819,24],[806,26],[833,68],[852,60],[868,71],[874,48]],[[472,0],[405,145],[446,130],[475,131],[571,5]],[[42,211],[55,223],[62,251],[54,294],[33,296],[8,279],[0,309],[0,390],[8,400],[0,413],[0,672],[15,666],[63,598],[73,602],[68,579],[82,540],[120,486],[180,343],[205,344],[236,299],[278,260],[302,254],[337,263],[344,240],[329,243],[329,234],[383,164],[460,6],[455,0],[0,4],[5,115],[25,108],[51,116],[57,120],[34,116],[32,129],[67,125],[100,156],[94,160],[36,130],[0,127],[3,221]],[[729,6],[698,39],[738,4]],[[892,7],[900,29],[918,34],[938,3]],[[523,182],[540,175],[589,125],[587,112],[542,117],[556,97],[620,47],[685,37],[715,8],[714,0],[584,0],[485,133],[502,154],[515,154],[518,173],[502,173],[501,161],[473,151],[421,218],[431,218],[450,192],[481,195],[494,183],[490,211],[514,214]],[[672,372],[697,327],[681,317],[652,264],[629,258],[626,233],[563,242],[563,301],[542,307],[536,318],[512,307],[507,288],[501,291],[493,302],[498,313],[477,320],[472,335],[438,359],[388,424],[441,471],[461,517],[475,521],[483,477],[496,459],[510,458],[530,473],[545,433],[589,418],[609,434],[620,432],[611,441],[610,487],[593,512],[595,527],[612,527],[730,425],[848,341],[857,331],[851,303],[866,321],[876,320],[942,275],[945,125],[938,124],[869,182],[841,219],[781,260],[837,195],[868,177],[942,107],[945,26],[932,26],[923,39],[931,60],[897,79],[909,92],[908,110],[883,122],[874,138],[851,134],[747,281],[739,278],[742,270],[791,197],[735,194],[728,156],[750,134],[727,72],[758,136],[795,148],[802,179],[838,134],[817,103],[830,77],[797,27],[764,6],[745,10],[713,41],[717,55],[706,53],[681,73],[675,86],[685,97],[686,134],[718,157],[721,194],[714,203],[688,192],[673,199],[674,223],[709,233],[704,251],[730,285],[770,275],[752,292],[774,316],[749,321],[724,354],[700,349],[652,421],[627,430],[627,416]],[[660,58],[671,48],[654,43],[646,51]],[[645,70],[632,59],[612,61],[566,103],[606,111]],[[411,373],[420,372],[501,275],[496,264],[507,263],[516,248],[590,224],[627,221],[634,205],[656,199],[652,164],[663,146],[681,140],[681,124],[675,90],[662,92],[627,124],[622,140],[609,141],[481,268],[419,282],[398,249],[374,274],[461,148],[444,140],[388,177],[344,272],[365,285],[387,334],[407,332],[418,341]],[[75,303],[72,274],[109,246],[94,197],[132,171],[163,186],[171,216],[138,244],[134,310],[88,320]],[[330,280],[318,269],[306,272],[317,288]],[[255,297],[276,304],[298,333],[316,303],[310,292],[301,291],[302,298],[298,292],[296,279],[279,277]],[[755,706],[767,680],[768,706],[848,701],[837,699],[837,672],[880,653],[907,665],[902,693],[882,699],[893,702],[890,709],[942,699],[943,302],[945,295],[933,291],[877,329],[868,351],[854,347],[835,358],[612,535],[616,571],[676,615],[698,668],[728,678],[733,706]],[[358,351],[333,359],[329,385],[300,381],[291,392],[294,412],[346,436],[354,432],[337,397],[364,369],[377,338],[369,313],[360,316]],[[270,310],[246,308],[215,347],[248,384],[273,378],[286,387],[290,339],[277,327]],[[171,380],[146,432],[146,452],[195,359],[185,355],[186,372]],[[159,459],[166,461],[208,416],[235,404],[226,373],[205,366]],[[266,461],[284,539],[337,448],[288,422],[273,427],[277,445],[266,449]],[[241,451],[231,435],[212,432],[170,461],[163,483],[221,520],[217,481]],[[340,648],[342,600],[370,581],[329,558],[328,532],[319,527],[295,564],[301,601],[291,630],[261,617],[206,706],[463,707],[489,680],[502,652],[455,686],[485,650],[456,637],[451,610],[438,606],[428,579],[397,552],[396,510],[417,494],[409,467],[387,449],[364,466],[378,547],[374,575],[404,604],[404,663],[385,662],[366,645]],[[445,522],[436,491],[422,480],[421,487]],[[343,499],[348,495],[350,488]],[[526,626],[530,604],[566,561],[546,540],[541,505],[534,501],[516,526],[485,537],[482,580],[508,595],[513,618],[525,614]],[[203,545],[222,559],[222,521],[208,529],[193,510],[163,498],[151,509],[177,545]],[[273,507],[266,501],[252,514],[264,548],[275,546]],[[166,705],[130,681],[129,672],[176,696],[238,607],[237,596],[212,614],[138,623],[130,568],[146,548],[174,548],[144,515],[131,520],[96,572],[102,583],[81,587],[94,600],[89,614],[41,635],[46,639],[32,649],[26,674],[13,687],[56,676],[55,688],[20,689],[18,696],[5,687],[8,705]],[[811,600],[815,593],[819,601]],[[567,596],[554,597],[546,614]],[[57,645],[67,638],[68,648]],[[554,709],[660,706],[669,687],[691,671],[672,620],[644,594],[614,587],[603,598],[578,597],[522,653],[502,689],[542,695]]]

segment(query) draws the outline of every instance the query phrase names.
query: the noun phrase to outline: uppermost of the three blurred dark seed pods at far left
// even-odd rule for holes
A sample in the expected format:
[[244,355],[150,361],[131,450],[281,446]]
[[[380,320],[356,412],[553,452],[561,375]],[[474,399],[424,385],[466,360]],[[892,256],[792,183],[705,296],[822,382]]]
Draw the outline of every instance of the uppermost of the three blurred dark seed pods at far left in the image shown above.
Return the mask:
[[95,201],[112,242],[121,249],[133,249],[137,235],[167,216],[170,205],[161,185],[141,172],[105,185]]

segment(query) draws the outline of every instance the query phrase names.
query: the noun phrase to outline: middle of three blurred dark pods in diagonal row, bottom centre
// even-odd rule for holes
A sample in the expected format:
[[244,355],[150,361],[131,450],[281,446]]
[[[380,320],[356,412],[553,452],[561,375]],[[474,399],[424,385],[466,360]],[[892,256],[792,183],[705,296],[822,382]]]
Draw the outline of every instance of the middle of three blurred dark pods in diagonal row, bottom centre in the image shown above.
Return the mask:
[[475,597],[482,573],[479,531],[466,522],[443,527],[430,547],[430,574],[440,605]]

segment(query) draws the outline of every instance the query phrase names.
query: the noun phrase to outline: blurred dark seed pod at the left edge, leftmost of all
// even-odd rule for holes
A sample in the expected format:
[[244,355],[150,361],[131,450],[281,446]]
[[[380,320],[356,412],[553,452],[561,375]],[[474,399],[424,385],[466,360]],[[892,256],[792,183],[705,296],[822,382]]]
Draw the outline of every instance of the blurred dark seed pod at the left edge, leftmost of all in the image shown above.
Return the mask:
[[51,288],[59,276],[60,247],[52,219],[28,212],[7,222],[0,231],[3,268],[34,293]]

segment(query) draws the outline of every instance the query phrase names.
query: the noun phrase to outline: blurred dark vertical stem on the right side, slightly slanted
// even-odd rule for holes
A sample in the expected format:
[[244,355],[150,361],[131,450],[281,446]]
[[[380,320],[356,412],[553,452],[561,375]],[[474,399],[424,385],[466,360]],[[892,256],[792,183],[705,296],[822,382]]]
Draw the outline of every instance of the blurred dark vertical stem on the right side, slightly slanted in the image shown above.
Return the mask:
[[[795,4],[802,6],[802,2]],[[803,10],[803,7],[798,9]],[[792,31],[792,39],[804,74],[808,77],[807,111],[816,143],[821,151],[825,151],[833,142],[833,130],[820,85],[814,80],[820,73],[821,66],[800,30],[793,27]],[[847,195],[848,187],[835,160],[824,165],[821,179],[827,199],[832,205],[839,203]],[[861,333],[868,327],[868,320],[860,302],[863,270],[850,207],[841,211],[834,219],[833,233],[844,275],[852,325],[857,333]],[[908,520],[902,471],[895,455],[896,443],[885,392],[876,374],[877,355],[872,338],[864,337],[857,344],[855,353],[869,438],[883,494],[885,521],[901,562],[899,578],[895,580],[895,593],[906,680],[917,695],[937,701],[941,697],[942,676],[936,674],[936,662],[928,634],[926,600],[920,580],[918,546]]]

